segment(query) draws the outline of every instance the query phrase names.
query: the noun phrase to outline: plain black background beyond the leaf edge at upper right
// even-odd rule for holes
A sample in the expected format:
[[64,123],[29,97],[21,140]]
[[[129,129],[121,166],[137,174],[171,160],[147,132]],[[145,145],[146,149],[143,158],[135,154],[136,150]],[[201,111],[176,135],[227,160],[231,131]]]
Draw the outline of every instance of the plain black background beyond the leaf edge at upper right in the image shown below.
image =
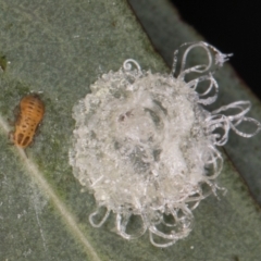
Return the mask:
[[182,20],[223,53],[261,100],[261,7],[254,1],[170,0]]

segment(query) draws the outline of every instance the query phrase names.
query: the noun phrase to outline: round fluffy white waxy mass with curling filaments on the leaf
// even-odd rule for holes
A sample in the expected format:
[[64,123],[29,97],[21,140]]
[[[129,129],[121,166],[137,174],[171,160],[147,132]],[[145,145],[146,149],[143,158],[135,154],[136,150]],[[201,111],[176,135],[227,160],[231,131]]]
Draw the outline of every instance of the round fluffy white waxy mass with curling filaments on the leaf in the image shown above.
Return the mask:
[[[201,105],[215,101],[219,87],[211,70],[229,55],[206,42],[184,47],[178,76],[174,76],[177,51],[171,75],[141,71],[129,59],[117,72],[103,74],[73,109],[73,174],[94,194],[98,208],[107,209],[101,220],[99,209],[92,213],[90,223],[101,226],[112,211],[121,236],[130,239],[148,229],[157,247],[186,237],[192,228],[192,210],[215,192],[223,161],[216,146],[227,141],[229,129],[244,137],[260,130],[259,122],[245,116],[248,101],[213,112]],[[194,48],[206,51],[208,64],[186,69]],[[185,80],[188,74],[199,76]],[[199,95],[196,88],[202,83],[208,85]],[[232,108],[237,113],[222,114]],[[245,121],[257,125],[253,134],[237,129]],[[132,216],[140,224],[134,231],[128,228]]]

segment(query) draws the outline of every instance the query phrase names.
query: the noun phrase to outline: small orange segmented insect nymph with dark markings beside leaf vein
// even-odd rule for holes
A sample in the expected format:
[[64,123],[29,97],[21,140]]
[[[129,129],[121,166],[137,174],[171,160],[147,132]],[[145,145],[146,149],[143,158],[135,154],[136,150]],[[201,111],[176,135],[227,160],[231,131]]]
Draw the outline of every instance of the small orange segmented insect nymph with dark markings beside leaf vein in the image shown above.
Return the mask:
[[28,95],[20,101],[20,113],[15,129],[11,134],[14,145],[26,148],[35,136],[36,129],[45,114],[45,104],[37,95]]

